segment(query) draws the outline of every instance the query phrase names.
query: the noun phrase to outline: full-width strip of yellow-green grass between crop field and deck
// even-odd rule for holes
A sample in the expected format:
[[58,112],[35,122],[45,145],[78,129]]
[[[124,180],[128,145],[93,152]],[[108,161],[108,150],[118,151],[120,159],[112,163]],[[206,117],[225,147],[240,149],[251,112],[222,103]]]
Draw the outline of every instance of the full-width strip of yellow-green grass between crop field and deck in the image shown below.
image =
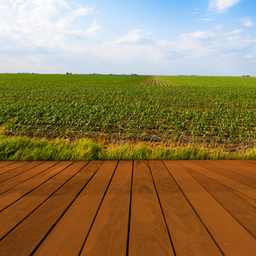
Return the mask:
[[0,137],[0,160],[256,160],[256,148],[236,152],[205,145],[167,147],[143,143],[101,145],[90,139]]

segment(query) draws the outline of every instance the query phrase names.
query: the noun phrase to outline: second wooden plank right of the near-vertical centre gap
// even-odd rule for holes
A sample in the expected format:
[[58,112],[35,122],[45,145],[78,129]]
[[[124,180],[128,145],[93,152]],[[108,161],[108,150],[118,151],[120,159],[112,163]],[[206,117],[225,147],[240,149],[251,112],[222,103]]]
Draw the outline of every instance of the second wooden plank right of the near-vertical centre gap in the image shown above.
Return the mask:
[[[160,160],[149,161],[176,255],[222,255]],[[186,245],[186,246],[184,246]]]

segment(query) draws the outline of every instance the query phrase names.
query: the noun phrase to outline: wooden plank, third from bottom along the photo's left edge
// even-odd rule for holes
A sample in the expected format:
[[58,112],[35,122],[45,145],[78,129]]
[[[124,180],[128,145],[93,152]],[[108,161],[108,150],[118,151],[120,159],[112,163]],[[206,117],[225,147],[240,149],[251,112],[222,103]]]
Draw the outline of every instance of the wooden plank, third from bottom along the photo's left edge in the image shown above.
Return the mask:
[[48,172],[41,172],[36,177],[32,177],[27,180],[25,183],[20,183],[20,185],[17,185],[15,188],[9,189],[1,195],[2,200],[0,201],[0,211],[3,211],[5,207],[8,207],[15,201],[19,200],[22,196],[37,188],[49,178],[55,176],[67,166],[70,166],[72,163],[73,162],[71,161],[60,162],[56,166],[49,168]]

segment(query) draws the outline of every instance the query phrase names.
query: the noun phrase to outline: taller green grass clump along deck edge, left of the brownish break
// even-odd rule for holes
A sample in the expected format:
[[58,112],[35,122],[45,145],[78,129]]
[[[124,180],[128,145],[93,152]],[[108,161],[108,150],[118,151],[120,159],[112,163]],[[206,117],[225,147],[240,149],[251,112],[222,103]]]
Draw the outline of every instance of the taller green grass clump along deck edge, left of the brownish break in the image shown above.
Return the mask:
[[63,139],[48,141],[28,137],[2,137],[0,160],[95,160],[101,148],[91,140],[68,143]]

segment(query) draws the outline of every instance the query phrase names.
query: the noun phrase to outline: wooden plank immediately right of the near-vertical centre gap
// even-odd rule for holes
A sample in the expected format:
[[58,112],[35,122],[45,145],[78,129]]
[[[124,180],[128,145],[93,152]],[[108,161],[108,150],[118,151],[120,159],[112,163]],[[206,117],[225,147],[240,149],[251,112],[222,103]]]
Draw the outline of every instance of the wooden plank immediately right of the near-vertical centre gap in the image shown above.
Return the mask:
[[146,161],[134,162],[129,255],[174,255]]

